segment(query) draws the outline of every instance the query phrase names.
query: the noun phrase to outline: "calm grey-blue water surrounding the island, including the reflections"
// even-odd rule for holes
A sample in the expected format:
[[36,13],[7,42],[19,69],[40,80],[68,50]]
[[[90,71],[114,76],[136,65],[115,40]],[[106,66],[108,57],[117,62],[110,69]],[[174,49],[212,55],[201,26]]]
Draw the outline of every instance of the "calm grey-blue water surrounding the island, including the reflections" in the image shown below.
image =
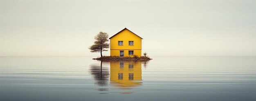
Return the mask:
[[256,101],[256,56],[0,57],[1,101]]

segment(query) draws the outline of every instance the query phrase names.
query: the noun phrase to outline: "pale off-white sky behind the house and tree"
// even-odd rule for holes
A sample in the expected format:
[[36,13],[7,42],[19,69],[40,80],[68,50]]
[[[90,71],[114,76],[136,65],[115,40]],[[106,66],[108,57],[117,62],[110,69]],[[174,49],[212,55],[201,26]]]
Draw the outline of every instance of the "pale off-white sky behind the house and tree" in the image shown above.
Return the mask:
[[1,0],[0,56],[100,56],[125,27],[149,56],[256,55],[256,0]]

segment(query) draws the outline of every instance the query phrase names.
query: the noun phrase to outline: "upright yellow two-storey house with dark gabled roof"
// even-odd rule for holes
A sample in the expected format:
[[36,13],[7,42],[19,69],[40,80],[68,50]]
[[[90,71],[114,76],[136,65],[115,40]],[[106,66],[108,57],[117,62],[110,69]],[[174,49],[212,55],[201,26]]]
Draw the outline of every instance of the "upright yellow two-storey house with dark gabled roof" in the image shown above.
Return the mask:
[[141,40],[137,34],[124,28],[110,39],[110,56],[141,56]]

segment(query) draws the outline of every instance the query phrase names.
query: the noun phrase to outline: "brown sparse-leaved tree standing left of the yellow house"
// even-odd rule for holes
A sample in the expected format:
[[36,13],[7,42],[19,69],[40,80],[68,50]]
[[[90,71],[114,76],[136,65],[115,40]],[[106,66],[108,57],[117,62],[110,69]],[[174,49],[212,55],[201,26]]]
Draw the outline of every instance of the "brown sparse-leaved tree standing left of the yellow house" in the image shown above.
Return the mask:
[[108,41],[108,34],[106,32],[99,32],[94,39],[94,45],[90,46],[90,52],[101,52],[102,57],[102,51],[108,51],[105,48],[109,48],[109,43],[106,43]]

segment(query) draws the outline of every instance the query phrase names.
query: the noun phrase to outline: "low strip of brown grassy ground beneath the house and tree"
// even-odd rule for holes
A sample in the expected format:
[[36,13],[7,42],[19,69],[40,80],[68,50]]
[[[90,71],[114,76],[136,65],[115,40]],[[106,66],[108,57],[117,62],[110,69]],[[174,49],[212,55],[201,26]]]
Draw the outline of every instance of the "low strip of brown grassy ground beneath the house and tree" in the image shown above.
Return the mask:
[[94,60],[152,60],[148,56],[124,56],[124,57],[119,57],[119,56],[103,56],[103,57],[98,57],[98,58],[93,58]]

